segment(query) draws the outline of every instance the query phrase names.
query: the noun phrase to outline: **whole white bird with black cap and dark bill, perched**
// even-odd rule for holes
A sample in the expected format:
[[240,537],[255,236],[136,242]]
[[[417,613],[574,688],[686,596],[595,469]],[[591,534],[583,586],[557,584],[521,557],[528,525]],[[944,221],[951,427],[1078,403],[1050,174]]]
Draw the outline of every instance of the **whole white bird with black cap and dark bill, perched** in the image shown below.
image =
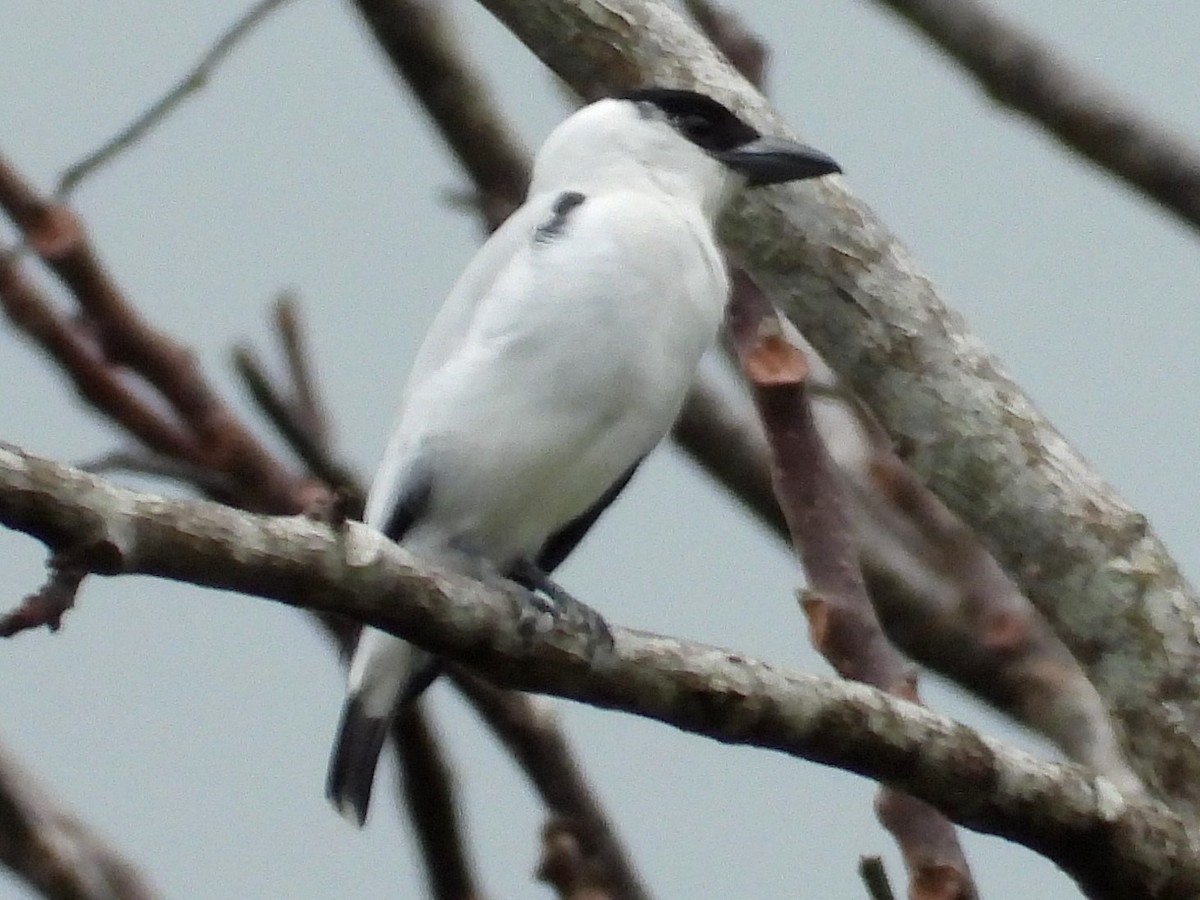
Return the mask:
[[[742,187],[840,170],[694,90],[575,112],[418,350],[364,521],[569,602],[550,574],[670,431],[715,342],[730,289],[718,216]],[[433,673],[431,654],[362,629],[326,780],[352,823],[392,718]]]

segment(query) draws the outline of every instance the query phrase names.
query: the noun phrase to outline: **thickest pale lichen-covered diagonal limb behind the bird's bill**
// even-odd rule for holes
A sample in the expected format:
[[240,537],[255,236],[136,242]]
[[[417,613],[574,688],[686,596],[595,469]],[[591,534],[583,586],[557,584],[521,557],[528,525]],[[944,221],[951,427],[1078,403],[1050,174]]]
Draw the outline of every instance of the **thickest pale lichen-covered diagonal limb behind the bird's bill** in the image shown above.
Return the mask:
[[[584,95],[700,85],[760,127],[788,131],[662,0],[482,2]],[[722,235],[1046,614],[1123,726],[1150,790],[1195,816],[1200,600],[1145,518],[1021,394],[842,179],[748,196]]]

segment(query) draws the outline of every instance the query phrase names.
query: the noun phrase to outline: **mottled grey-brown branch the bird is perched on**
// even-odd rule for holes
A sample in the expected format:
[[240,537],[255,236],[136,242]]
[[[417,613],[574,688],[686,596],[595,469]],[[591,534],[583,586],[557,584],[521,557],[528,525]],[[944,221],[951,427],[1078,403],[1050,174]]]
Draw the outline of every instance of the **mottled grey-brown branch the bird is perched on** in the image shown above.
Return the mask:
[[[863,685],[628,629],[598,659],[562,626],[530,637],[526,595],[422,564],[383,535],[338,533],[114,487],[0,446],[0,522],[52,550],[102,544],[97,574],[144,574],[359,618],[499,683],[620,709],[890,784],[1054,859],[1093,898],[1200,892],[1180,820],[1076,766],[1040,762]],[[971,790],[964,790],[971,785]]]

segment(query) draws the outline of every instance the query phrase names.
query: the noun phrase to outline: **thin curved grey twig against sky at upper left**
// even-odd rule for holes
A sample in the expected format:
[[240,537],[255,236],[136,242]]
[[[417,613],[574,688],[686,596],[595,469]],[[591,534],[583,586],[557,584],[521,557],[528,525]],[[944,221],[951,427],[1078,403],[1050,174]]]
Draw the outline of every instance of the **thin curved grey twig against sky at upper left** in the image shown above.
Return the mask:
[[151,103],[112,138],[78,162],[64,169],[54,188],[54,197],[59,200],[68,199],[84,179],[112,162],[116,156],[128,150],[150,133],[150,131],[161,125],[185,100],[208,84],[209,78],[212,77],[217,67],[254,30],[256,25],[287,1],[259,0],[259,2],[251,6],[241,18],[217,36],[217,40],[200,56],[200,60],[170,90],[158,97],[158,100]]

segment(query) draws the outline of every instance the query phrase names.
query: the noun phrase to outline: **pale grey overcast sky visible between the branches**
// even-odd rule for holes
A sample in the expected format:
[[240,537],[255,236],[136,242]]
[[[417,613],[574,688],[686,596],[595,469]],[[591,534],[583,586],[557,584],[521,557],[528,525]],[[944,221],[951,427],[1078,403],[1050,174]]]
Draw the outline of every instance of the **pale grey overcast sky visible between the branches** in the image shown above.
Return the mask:
[[[245,0],[13,2],[0,30],[0,152],[42,187],[156,97]],[[1006,0],[1012,17],[1147,114],[1195,134],[1200,4]],[[473,4],[454,5],[530,146],[566,107],[539,62]],[[1200,570],[1196,235],[991,107],[865,0],[755,0],[781,113],[838,158],[947,300],[1033,398]],[[443,202],[462,179],[348,5],[294,0],[204,92],[84,185],[76,206],[118,281],[190,342],[244,407],[228,350],[268,347],[271,298],[304,298],[346,456],[368,473],[397,388],[478,244]],[[8,234],[2,235],[5,240]],[[0,329],[0,439],[60,460],[118,445],[62,379]],[[0,533],[16,602],[38,545]],[[623,625],[733,647],[805,671],[794,562],[674,451],[643,467],[562,570]],[[0,740],[172,898],[419,896],[415,854],[382,775],[364,832],[325,804],[341,703],[334,655],[266,602],[122,578],[90,581],[58,635],[0,646]],[[926,683],[935,708],[1026,746]],[[494,898],[532,881],[541,811],[445,688],[438,722],[460,763],[470,838]],[[864,895],[858,857],[902,870],[874,785],[560,704],[660,898]],[[1051,865],[967,835],[986,896],[1070,898]],[[0,898],[29,894],[0,875]]]

